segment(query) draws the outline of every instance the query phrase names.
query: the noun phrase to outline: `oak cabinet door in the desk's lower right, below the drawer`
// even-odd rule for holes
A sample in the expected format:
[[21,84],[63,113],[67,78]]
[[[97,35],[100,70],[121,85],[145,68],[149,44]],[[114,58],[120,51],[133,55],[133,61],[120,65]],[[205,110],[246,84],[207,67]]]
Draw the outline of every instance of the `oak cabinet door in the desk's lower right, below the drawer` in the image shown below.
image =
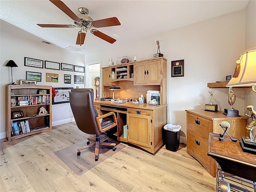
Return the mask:
[[127,141],[136,145],[151,147],[150,116],[127,114]]

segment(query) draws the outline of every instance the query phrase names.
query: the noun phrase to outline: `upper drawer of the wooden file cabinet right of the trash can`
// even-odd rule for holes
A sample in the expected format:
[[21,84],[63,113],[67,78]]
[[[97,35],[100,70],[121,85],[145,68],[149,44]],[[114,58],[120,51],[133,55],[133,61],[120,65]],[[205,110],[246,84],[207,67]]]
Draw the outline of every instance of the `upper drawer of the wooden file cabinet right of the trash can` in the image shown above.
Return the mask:
[[188,131],[205,142],[208,142],[210,133],[210,121],[188,114]]

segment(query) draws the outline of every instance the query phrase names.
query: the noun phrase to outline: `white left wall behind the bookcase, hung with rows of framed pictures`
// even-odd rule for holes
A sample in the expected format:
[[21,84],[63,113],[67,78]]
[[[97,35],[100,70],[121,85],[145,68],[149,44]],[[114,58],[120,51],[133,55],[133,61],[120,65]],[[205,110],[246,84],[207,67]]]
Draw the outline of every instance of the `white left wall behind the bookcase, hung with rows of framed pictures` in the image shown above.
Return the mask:
[[[63,62],[78,66],[84,66],[84,55],[58,48],[54,45],[43,44],[15,36],[14,34],[1,30],[1,50],[0,50],[0,138],[5,137],[5,87],[11,82],[11,69],[6,67],[9,60],[14,60],[18,68],[13,68],[13,80],[18,84],[20,79],[26,79],[26,71],[41,72],[42,82],[38,85],[52,85],[53,87],[76,87],[84,88],[84,84],[74,84],[74,75],[83,75],[79,72],[64,70],[51,70],[24,66],[24,57],[48,60],[53,62]],[[59,74],[59,82],[46,82],[46,72]],[[72,75],[72,84],[64,84],[64,74]],[[69,103],[56,104],[52,106],[52,125],[74,121]]]

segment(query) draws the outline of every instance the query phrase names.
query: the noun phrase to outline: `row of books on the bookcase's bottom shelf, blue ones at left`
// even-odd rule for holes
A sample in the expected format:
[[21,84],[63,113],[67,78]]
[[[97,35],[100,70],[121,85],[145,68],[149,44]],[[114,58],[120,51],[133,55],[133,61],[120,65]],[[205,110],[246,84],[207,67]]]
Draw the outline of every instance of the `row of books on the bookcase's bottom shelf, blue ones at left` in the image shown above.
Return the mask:
[[13,122],[11,121],[11,136],[30,132],[30,124],[27,119]]

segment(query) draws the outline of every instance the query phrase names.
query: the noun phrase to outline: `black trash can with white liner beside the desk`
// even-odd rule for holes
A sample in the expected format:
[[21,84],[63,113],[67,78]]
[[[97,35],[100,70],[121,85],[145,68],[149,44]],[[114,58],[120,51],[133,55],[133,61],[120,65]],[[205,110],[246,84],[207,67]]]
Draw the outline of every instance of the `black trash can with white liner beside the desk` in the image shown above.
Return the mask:
[[180,146],[180,125],[166,124],[162,128],[162,136],[165,147],[169,151],[176,152]]

